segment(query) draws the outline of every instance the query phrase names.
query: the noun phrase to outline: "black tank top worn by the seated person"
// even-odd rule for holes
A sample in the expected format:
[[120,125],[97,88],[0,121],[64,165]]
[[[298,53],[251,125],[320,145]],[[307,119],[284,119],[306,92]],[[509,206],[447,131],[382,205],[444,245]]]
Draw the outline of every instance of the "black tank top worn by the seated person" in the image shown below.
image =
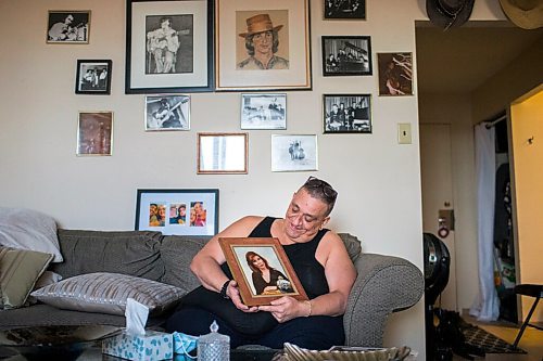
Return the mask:
[[[277,218],[274,217],[265,217],[249,236],[272,237],[272,224],[276,219]],[[325,268],[315,258],[318,244],[328,231],[328,229],[318,231],[315,237],[310,242],[282,246],[310,298],[315,298],[329,292]]]

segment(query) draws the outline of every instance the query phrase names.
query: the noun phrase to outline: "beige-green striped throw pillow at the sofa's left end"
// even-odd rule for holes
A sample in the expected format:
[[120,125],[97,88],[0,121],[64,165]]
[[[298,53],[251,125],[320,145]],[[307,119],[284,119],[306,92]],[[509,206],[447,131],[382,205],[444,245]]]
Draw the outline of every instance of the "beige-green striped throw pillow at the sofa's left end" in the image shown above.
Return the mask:
[[23,307],[53,257],[41,252],[0,246],[0,309]]

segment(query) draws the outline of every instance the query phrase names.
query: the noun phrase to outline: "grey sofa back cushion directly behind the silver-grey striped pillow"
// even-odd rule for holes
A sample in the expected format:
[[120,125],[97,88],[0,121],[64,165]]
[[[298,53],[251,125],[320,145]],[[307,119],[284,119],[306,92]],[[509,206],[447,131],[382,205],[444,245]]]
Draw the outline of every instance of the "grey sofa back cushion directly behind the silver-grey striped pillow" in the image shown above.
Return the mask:
[[59,230],[63,263],[50,270],[64,279],[92,272],[123,273],[160,281],[162,234],[150,231]]

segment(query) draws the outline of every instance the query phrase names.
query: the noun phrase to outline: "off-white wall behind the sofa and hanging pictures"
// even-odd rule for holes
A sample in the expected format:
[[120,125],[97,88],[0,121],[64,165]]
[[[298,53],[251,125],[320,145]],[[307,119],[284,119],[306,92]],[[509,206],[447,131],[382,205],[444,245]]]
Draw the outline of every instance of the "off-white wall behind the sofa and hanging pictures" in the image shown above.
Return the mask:
[[[134,228],[136,190],[218,188],[219,228],[247,214],[282,216],[310,176],[339,191],[331,228],[363,241],[364,252],[404,257],[422,268],[417,95],[379,98],[371,77],[321,76],[321,35],[369,35],[376,52],[413,52],[425,0],[367,1],[367,21],[324,21],[312,0],[313,91],[288,93],[288,130],[318,134],[319,170],[272,172],[272,131],[249,132],[249,173],[195,175],[201,131],[239,131],[239,93],[192,94],[191,130],[144,132],[143,95],[124,94],[125,2],[0,2],[0,205],[28,207],[71,229]],[[92,11],[89,44],[47,44],[48,10]],[[472,20],[501,18],[497,1],[477,1]],[[502,17],[503,18],[503,17]],[[113,61],[112,94],[74,94],[78,59]],[[415,73],[416,74],[416,73]],[[416,85],[415,85],[416,86]],[[416,89],[416,87],[415,87]],[[324,93],[371,93],[372,134],[323,134]],[[77,157],[78,111],[113,111],[113,156]],[[396,124],[413,144],[399,145]],[[424,353],[424,307],[391,318],[387,345]],[[363,327],[364,325],[361,325]]]

